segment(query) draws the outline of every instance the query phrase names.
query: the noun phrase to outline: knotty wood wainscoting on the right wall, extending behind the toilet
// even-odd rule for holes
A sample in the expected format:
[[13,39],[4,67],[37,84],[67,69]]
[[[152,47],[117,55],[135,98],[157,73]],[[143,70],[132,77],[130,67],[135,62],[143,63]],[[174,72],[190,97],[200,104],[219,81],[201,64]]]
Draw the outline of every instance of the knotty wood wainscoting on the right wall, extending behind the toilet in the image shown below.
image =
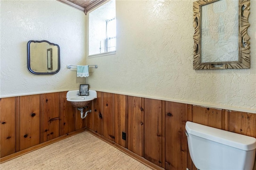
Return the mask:
[[[87,121],[88,130],[109,143],[127,148],[139,156],[141,162],[154,164],[156,169],[196,170],[184,133],[187,121],[256,137],[256,114],[104,92],[97,94],[98,99],[92,104],[94,113],[89,116],[93,121]],[[122,139],[122,132],[126,140]]]

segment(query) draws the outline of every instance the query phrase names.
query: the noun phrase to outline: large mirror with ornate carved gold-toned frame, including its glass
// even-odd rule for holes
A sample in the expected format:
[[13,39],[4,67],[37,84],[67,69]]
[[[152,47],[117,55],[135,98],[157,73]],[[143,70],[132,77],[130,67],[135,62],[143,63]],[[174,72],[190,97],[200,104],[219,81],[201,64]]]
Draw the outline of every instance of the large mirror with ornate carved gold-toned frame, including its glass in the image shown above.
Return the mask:
[[194,69],[250,68],[250,0],[193,3]]

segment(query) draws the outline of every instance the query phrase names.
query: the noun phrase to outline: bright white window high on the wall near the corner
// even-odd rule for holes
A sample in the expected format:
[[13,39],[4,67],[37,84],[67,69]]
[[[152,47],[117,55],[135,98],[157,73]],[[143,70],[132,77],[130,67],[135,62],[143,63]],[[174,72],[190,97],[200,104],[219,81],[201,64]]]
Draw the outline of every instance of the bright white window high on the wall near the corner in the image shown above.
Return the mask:
[[116,3],[110,0],[89,13],[89,56],[116,51]]

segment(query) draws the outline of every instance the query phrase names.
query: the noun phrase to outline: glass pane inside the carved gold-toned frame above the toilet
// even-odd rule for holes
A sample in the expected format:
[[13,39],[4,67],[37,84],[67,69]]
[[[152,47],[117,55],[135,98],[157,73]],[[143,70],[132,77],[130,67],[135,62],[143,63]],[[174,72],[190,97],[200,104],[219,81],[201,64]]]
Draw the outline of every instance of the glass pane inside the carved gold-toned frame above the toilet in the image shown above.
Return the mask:
[[238,61],[238,0],[201,7],[201,62]]

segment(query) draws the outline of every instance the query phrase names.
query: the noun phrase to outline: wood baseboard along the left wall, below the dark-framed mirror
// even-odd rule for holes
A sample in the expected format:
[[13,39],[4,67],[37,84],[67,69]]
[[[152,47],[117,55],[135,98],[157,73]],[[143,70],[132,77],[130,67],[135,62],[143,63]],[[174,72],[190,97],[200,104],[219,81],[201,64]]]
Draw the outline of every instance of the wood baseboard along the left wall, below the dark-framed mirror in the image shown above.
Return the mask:
[[14,158],[17,158],[17,157],[19,157],[19,156],[22,156],[22,155],[24,155],[24,154],[27,154],[27,153],[29,153],[29,152],[32,152],[32,151],[34,151],[34,150],[40,149],[40,148],[42,148],[42,147],[44,147],[44,146],[47,146],[47,145],[49,145],[49,144],[53,144],[53,143],[55,143],[55,142],[58,142],[58,141],[60,141],[60,140],[63,140],[63,139],[68,138],[68,137],[70,137],[70,136],[73,136],[73,135],[78,134],[78,133],[80,133],[80,132],[83,132],[83,131],[85,131],[85,130],[86,130],[86,128],[81,128],[81,129],[79,129],[79,130],[76,130],[76,131],[74,131],[74,132],[70,132],[70,133],[65,134],[65,135],[63,135],[63,136],[60,136],[60,137],[58,137],[58,138],[49,140],[49,141],[47,141],[47,142],[40,143],[40,144],[38,144],[38,145],[36,145],[36,146],[32,146],[32,147],[30,147],[30,148],[21,150],[21,151],[19,151],[19,152],[14,153],[14,154],[10,154],[10,155],[8,155],[8,156],[5,156],[5,157],[3,157],[3,158],[0,158],[0,164],[6,162],[6,161],[8,161],[8,160],[12,160],[12,159],[14,159]]

